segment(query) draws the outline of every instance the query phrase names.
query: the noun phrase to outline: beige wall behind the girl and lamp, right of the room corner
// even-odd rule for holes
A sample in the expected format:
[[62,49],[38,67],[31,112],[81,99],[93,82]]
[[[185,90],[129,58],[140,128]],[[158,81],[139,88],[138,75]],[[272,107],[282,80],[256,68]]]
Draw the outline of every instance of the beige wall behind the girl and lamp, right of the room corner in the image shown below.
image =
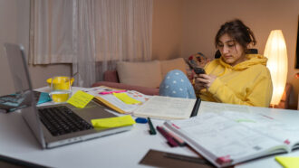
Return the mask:
[[297,106],[299,79],[294,79],[295,45],[298,27],[298,0],[185,0],[183,1],[182,56],[202,51],[213,58],[214,37],[219,26],[239,18],[256,35],[256,48],[264,53],[271,30],[281,29],[288,53],[287,82],[292,83],[291,106]]

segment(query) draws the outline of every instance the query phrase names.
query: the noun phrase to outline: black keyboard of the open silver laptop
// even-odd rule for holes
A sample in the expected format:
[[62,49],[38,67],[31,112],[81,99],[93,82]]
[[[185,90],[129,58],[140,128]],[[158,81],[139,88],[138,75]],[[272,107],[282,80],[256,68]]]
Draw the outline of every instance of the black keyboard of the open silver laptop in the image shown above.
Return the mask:
[[91,124],[65,106],[40,108],[38,111],[43,125],[53,136],[93,128]]

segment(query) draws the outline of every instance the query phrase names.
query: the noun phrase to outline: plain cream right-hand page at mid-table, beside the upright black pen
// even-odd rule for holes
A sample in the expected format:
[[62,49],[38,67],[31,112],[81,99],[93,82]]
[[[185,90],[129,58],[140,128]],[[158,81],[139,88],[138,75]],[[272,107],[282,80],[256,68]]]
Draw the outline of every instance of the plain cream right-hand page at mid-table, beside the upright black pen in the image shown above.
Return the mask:
[[198,109],[195,106],[200,106],[196,99],[153,96],[137,108],[133,115],[159,119],[187,119],[194,108]]

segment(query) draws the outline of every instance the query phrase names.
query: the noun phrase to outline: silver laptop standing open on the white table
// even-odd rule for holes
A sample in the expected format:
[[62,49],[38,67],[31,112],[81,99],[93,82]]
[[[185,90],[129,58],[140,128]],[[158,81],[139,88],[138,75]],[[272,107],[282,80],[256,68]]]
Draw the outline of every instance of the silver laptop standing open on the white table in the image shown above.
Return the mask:
[[5,43],[5,53],[14,79],[14,88],[22,98],[20,104],[23,107],[22,117],[43,148],[69,145],[103,135],[116,134],[130,130],[132,127],[93,128],[91,119],[115,117],[93,101],[84,108],[72,107],[69,104],[36,107],[24,48]]

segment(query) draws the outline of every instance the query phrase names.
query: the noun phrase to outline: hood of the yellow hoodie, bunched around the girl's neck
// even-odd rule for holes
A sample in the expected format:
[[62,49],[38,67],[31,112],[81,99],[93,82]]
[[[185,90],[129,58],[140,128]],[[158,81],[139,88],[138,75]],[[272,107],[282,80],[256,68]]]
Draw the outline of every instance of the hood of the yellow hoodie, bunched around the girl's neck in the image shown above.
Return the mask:
[[220,64],[225,67],[225,69],[232,69],[232,70],[246,70],[249,67],[252,67],[257,64],[266,65],[268,59],[260,54],[246,54],[246,61],[242,61],[236,64],[234,67],[227,64],[225,61],[222,60],[222,57],[219,59]]

